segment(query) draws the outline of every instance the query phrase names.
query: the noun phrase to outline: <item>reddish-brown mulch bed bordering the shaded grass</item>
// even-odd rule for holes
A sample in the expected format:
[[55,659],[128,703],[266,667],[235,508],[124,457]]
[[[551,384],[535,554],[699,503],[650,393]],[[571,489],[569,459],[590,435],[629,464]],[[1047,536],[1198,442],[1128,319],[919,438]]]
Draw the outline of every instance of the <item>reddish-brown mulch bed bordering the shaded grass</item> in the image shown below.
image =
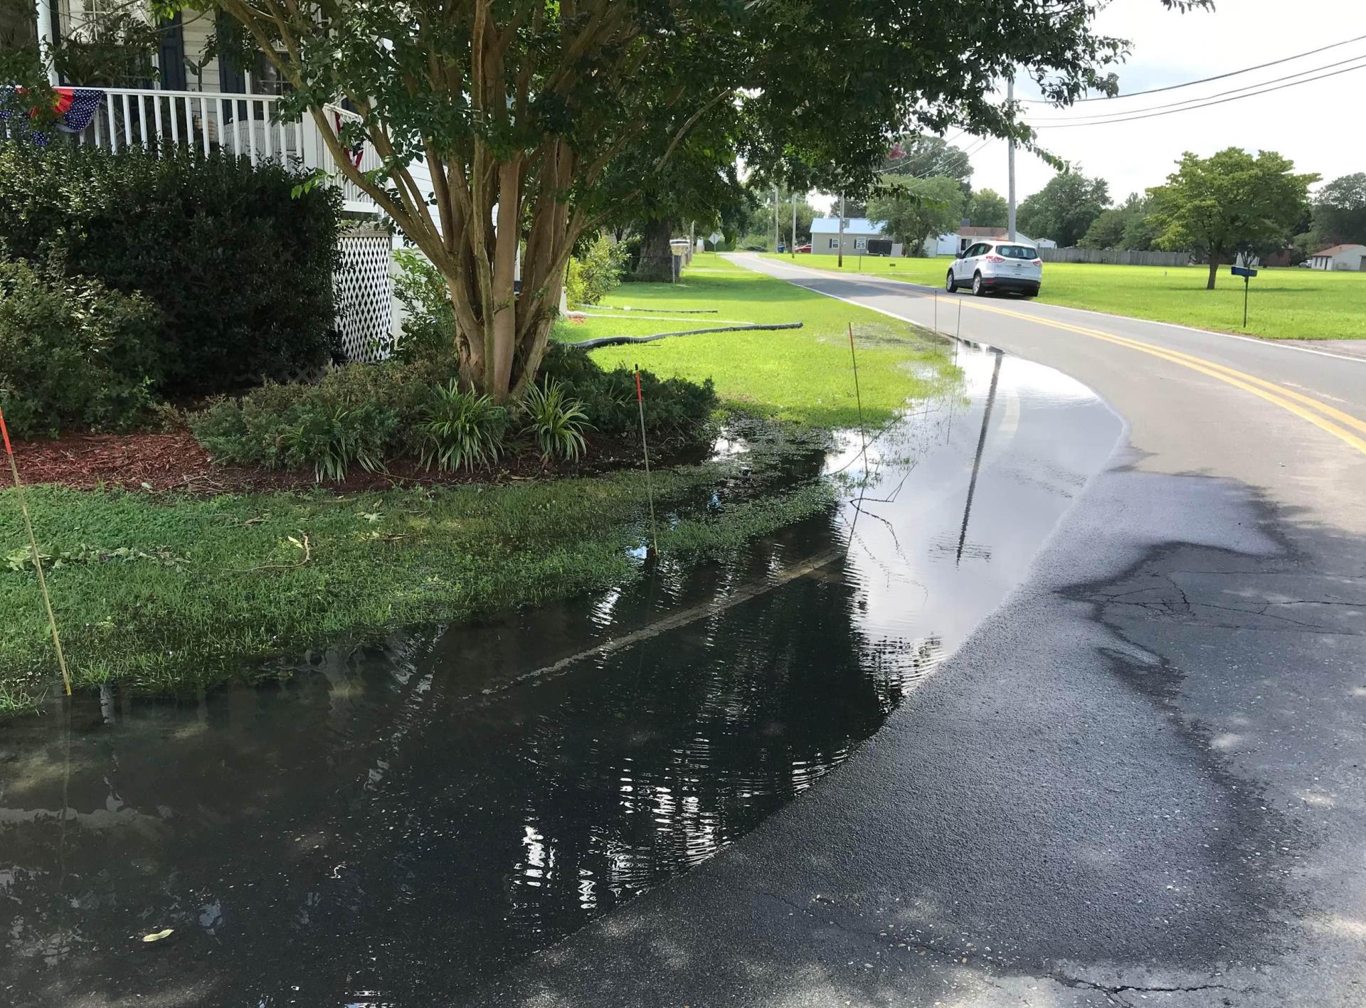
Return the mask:
[[[194,494],[249,493],[316,486],[311,471],[281,471],[216,466],[189,430],[138,434],[67,434],[59,440],[16,441],[15,459],[25,484],[57,484],[79,490],[123,486]],[[388,473],[357,470],[333,490],[382,490],[399,485],[505,484],[519,479],[601,473],[631,467],[638,448],[628,443],[596,438],[578,464],[542,464],[534,455],[504,459],[496,468],[475,473],[425,471],[417,462],[391,463]]]

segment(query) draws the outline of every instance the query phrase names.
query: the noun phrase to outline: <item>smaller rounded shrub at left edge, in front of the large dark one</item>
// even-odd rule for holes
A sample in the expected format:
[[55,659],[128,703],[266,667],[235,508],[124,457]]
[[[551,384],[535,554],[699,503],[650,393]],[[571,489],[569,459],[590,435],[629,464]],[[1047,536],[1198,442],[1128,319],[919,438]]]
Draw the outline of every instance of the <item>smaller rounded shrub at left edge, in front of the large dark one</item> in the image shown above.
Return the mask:
[[0,407],[18,434],[127,430],[153,407],[160,318],[138,295],[0,258]]

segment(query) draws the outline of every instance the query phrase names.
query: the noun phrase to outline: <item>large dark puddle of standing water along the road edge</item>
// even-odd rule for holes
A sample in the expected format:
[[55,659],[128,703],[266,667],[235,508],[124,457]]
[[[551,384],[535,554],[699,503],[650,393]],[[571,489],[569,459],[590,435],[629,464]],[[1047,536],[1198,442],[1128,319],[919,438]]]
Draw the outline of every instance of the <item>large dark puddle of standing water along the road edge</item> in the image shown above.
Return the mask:
[[878,729],[1120,434],[1056,372],[958,363],[724,561],[0,727],[0,1001],[459,1003],[706,860]]

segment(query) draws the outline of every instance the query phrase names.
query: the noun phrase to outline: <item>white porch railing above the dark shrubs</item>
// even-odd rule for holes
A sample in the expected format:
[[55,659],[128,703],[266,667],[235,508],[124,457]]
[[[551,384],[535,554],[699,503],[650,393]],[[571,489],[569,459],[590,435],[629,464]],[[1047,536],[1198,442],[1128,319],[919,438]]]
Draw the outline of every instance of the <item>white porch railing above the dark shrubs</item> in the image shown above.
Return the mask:
[[[157,149],[164,143],[198,148],[208,154],[227,150],[251,164],[281,161],[307,171],[321,168],[342,187],[343,209],[376,213],[374,201],[344,178],[311,116],[281,120],[273,94],[224,92],[164,92],[141,87],[104,87],[105,98],[78,142],[108,150],[127,146]],[[359,119],[354,112],[328,107],[333,135],[337,124]],[[380,167],[380,156],[366,142],[358,152],[359,168]]]

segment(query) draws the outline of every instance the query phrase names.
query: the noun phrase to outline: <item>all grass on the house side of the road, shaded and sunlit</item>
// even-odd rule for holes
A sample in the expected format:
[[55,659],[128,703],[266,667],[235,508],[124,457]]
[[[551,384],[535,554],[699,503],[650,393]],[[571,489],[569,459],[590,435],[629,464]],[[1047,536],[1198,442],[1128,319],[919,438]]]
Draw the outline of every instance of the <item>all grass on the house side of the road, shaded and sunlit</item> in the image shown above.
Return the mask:
[[[608,306],[716,318],[802,321],[803,329],[686,336],[604,348],[604,365],[639,362],[668,376],[713,378],[725,406],[773,418],[744,460],[758,493],[712,490],[740,459],[656,471],[668,516],[665,563],[734,549],[828,507],[821,479],[787,482],[832,428],[858,423],[848,331],[854,325],[865,421],[940,392],[955,369],[943,346],[911,326],[699,255],[679,284],[628,284]],[[560,336],[701,328],[688,321],[590,318]],[[678,316],[684,318],[683,316]],[[695,321],[694,321],[695,320]],[[749,421],[747,421],[749,423]],[[754,426],[750,423],[750,426]],[[20,460],[22,464],[22,460]],[[131,682],[156,690],[249,675],[253,660],[346,635],[534,605],[639,576],[642,473],[507,486],[393,489],[337,496],[266,493],[176,497],[31,488],[29,501],[67,660],[76,686]],[[12,490],[0,492],[0,713],[33,709],[56,662],[27,561]],[[255,675],[262,675],[255,665]]]

